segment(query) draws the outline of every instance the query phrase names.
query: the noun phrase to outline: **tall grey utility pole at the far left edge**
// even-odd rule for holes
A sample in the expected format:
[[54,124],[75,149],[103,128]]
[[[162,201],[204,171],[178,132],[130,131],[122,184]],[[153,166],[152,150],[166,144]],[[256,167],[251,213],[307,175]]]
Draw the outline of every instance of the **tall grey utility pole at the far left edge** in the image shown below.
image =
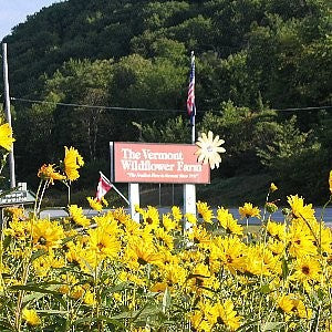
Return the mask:
[[[4,86],[4,114],[7,122],[11,126],[10,114],[10,97],[9,97],[9,81],[8,81],[8,63],[7,63],[7,43],[2,43],[2,59],[3,59],[3,86]],[[9,152],[9,173],[10,173],[10,188],[14,188],[15,185],[15,162],[13,156],[13,145]]]

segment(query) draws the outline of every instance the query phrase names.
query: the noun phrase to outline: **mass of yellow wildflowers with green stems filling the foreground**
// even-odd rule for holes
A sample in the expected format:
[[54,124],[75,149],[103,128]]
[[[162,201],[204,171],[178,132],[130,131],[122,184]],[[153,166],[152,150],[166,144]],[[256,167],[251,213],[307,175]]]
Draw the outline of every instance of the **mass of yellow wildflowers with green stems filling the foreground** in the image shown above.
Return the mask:
[[[137,206],[136,222],[87,197],[89,217],[70,203],[83,165],[65,147],[59,166],[39,169],[33,210],[4,211],[1,331],[332,331],[332,231],[302,197],[288,197],[283,222],[273,221],[274,184],[262,209],[239,208],[243,225],[203,201],[197,216]],[[68,217],[41,218],[55,180],[69,189]]]

